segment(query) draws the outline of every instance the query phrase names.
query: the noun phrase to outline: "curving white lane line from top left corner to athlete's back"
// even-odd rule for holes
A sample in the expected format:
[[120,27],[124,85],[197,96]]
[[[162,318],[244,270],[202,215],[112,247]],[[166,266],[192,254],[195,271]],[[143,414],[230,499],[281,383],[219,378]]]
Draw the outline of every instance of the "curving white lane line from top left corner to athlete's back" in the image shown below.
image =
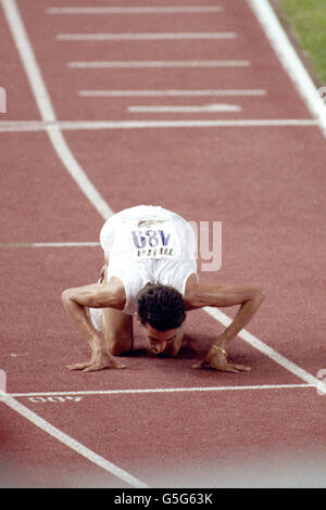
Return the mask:
[[47,87],[38,67],[34,50],[29,42],[24,23],[22,21],[20,11],[15,0],[2,0],[2,8],[7,17],[9,27],[11,29],[13,39],[15,41],[18,54],[21,56],[25,73],[27,75],[30,88],[34,93],[40,116],[45,123],[45,129],[48,132],[50,141],[55,150],[62,164],[75,180],[77,186],[82,189],[98,213],[109,218],[112,216],[112,211],[104,202],[98,190],[90,182],[82,166],[75,160],[73,153],[67,146],[61,130],[60,124],[57,122],[55,113],[53,111]]

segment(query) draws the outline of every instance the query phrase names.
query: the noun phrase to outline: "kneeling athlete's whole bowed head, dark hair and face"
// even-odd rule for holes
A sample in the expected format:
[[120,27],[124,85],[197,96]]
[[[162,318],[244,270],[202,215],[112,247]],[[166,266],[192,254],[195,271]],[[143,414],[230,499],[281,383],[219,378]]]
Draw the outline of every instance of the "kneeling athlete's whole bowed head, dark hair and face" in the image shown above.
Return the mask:
[[183,295],[173,286],[146,285],[137,296],[137,315],[153,353],[163,353],[186,319]]

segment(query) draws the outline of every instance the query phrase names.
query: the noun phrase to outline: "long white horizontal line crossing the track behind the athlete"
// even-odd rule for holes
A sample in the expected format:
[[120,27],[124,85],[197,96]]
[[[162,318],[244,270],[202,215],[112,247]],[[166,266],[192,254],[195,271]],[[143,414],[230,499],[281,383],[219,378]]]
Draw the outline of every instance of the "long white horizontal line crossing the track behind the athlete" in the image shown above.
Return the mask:
[[[314,119],[234,119],[234,120],[63,120],[58,123],[5,122],[0,123],[0,132],[42,131],[49,125],[58,125],[60,130],[92,129],[164,129],[164,128],[218,128],[218,127],[316,127]],[[108,206],[109,207],[109,206]],[[104,209],[104,208],[103,208]]]

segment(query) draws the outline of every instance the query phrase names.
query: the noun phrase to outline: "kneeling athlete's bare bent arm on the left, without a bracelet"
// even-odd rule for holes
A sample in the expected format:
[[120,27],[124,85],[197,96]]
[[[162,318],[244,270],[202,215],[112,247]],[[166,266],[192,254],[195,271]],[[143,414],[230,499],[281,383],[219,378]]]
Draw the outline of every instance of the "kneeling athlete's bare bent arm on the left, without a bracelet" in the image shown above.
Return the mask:
[[124,368],[117,364],[105,346],[104,340],[97,333],[87,308],[111,307],[123,309],[125,306],[125,291],[117,278],[112,278],[109,283],[96,283],[76,289],[67,289],[61,295],[62,303],[71,319],[75,322],[80,333],[87,339],[91,348],[91,358],[83,364],[70,365],[71,370],[101,370],[112,365],[114,368]]

